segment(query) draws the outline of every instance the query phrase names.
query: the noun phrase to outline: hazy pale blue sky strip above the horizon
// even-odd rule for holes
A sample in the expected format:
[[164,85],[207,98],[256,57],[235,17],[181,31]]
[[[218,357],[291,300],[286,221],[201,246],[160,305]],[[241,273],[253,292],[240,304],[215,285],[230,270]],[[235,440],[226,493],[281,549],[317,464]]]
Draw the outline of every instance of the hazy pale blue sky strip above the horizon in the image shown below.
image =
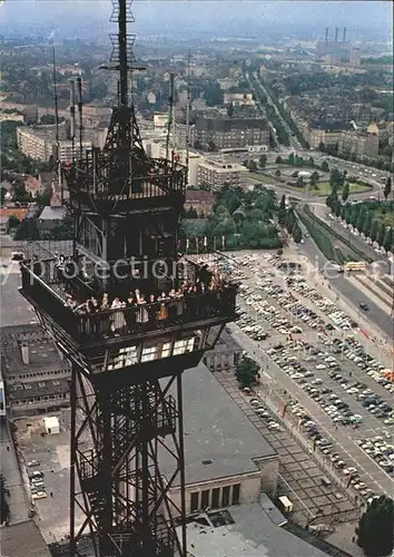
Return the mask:
[[[0,0],[1,1],[1,0]],[[322,35],[325,26],[346,26],[352,28],[392,29],[392,2],[388,1],[258,1],[258,0],[135,0],[132,11],[138,27],[160,30],[160,25],[176,21],[186,29],[207,26],[211,29],[219,25],[218,35],[225,35],[226,23],[230,21],[270,26],[319,27]],[[100,23],[99,28],[109,29],[111,12],[110,0],[3,0],[0,8],[0,22],[39,22],[53,27],[66,27],[71,20]]]

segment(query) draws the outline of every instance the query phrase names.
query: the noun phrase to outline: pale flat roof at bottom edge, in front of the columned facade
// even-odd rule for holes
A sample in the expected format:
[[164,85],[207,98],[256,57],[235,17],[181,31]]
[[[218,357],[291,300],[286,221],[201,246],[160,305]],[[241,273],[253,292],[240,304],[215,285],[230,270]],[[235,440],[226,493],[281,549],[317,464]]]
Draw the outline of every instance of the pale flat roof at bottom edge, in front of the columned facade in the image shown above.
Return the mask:
[[[220,520],[221,516],[224,520]],[[188,555],[194,557],[327,556],[276,526],[258,502],[232,507],[225,512],[209,512],[200,518],[203,524],[193,521],[187,525]],[[221,526],[220,522],[227,524]]]

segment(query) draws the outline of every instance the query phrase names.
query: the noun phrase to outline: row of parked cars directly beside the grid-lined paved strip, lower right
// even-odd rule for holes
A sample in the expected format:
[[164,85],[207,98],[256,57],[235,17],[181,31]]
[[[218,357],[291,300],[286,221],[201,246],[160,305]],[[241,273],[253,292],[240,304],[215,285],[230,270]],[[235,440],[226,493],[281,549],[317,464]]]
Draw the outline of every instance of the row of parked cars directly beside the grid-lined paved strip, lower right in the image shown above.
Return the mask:
[[335,451],[335,442],[332,439],[323,437],[317,424],[298,402],[294,402],[290,405],[290,411],[297,418],[301,428],[308,439],[311,439],[314,448],[322,452],[327,460],[329,459],[328,461],[336,468],[337,473],[343,475],[348,487],[352,487],[365,501],[372,502],[373,498],[377,496],[374,494],[373,489],[368,488],[362,480],[355,467],[346,466],[346,461]]

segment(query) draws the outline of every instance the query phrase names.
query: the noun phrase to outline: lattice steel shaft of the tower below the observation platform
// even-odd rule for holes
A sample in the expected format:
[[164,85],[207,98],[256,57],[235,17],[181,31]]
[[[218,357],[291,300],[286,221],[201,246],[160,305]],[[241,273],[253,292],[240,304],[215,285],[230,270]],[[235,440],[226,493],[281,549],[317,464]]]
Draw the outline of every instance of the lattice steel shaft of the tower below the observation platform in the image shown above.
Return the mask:
[[[109,391],[76,365],[72,377],[71,486],[78,482],[80,490],[71,491],[70,515],[78,506],[85,519],[78,531],[71,528],[70,554],[79,555],[89,528],[95,557],[165,557],[175,548],[185,555],[175,534],[185,509],[168,495],[175,483],[185,488],[181,373]],[[176,395],[168,394],[171,388]],[[169,478],[160,472],[162,451],[174,459]]]

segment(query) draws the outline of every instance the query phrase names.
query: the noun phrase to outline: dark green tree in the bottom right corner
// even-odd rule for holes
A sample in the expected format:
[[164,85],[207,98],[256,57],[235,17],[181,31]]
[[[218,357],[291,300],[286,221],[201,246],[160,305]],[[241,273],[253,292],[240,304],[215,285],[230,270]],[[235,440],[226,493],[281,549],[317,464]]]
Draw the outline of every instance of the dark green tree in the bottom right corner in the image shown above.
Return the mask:
[[393,550],[394,501],[382,496],[374,499],[356,528],[357,544],[367,557],[383,557]]

